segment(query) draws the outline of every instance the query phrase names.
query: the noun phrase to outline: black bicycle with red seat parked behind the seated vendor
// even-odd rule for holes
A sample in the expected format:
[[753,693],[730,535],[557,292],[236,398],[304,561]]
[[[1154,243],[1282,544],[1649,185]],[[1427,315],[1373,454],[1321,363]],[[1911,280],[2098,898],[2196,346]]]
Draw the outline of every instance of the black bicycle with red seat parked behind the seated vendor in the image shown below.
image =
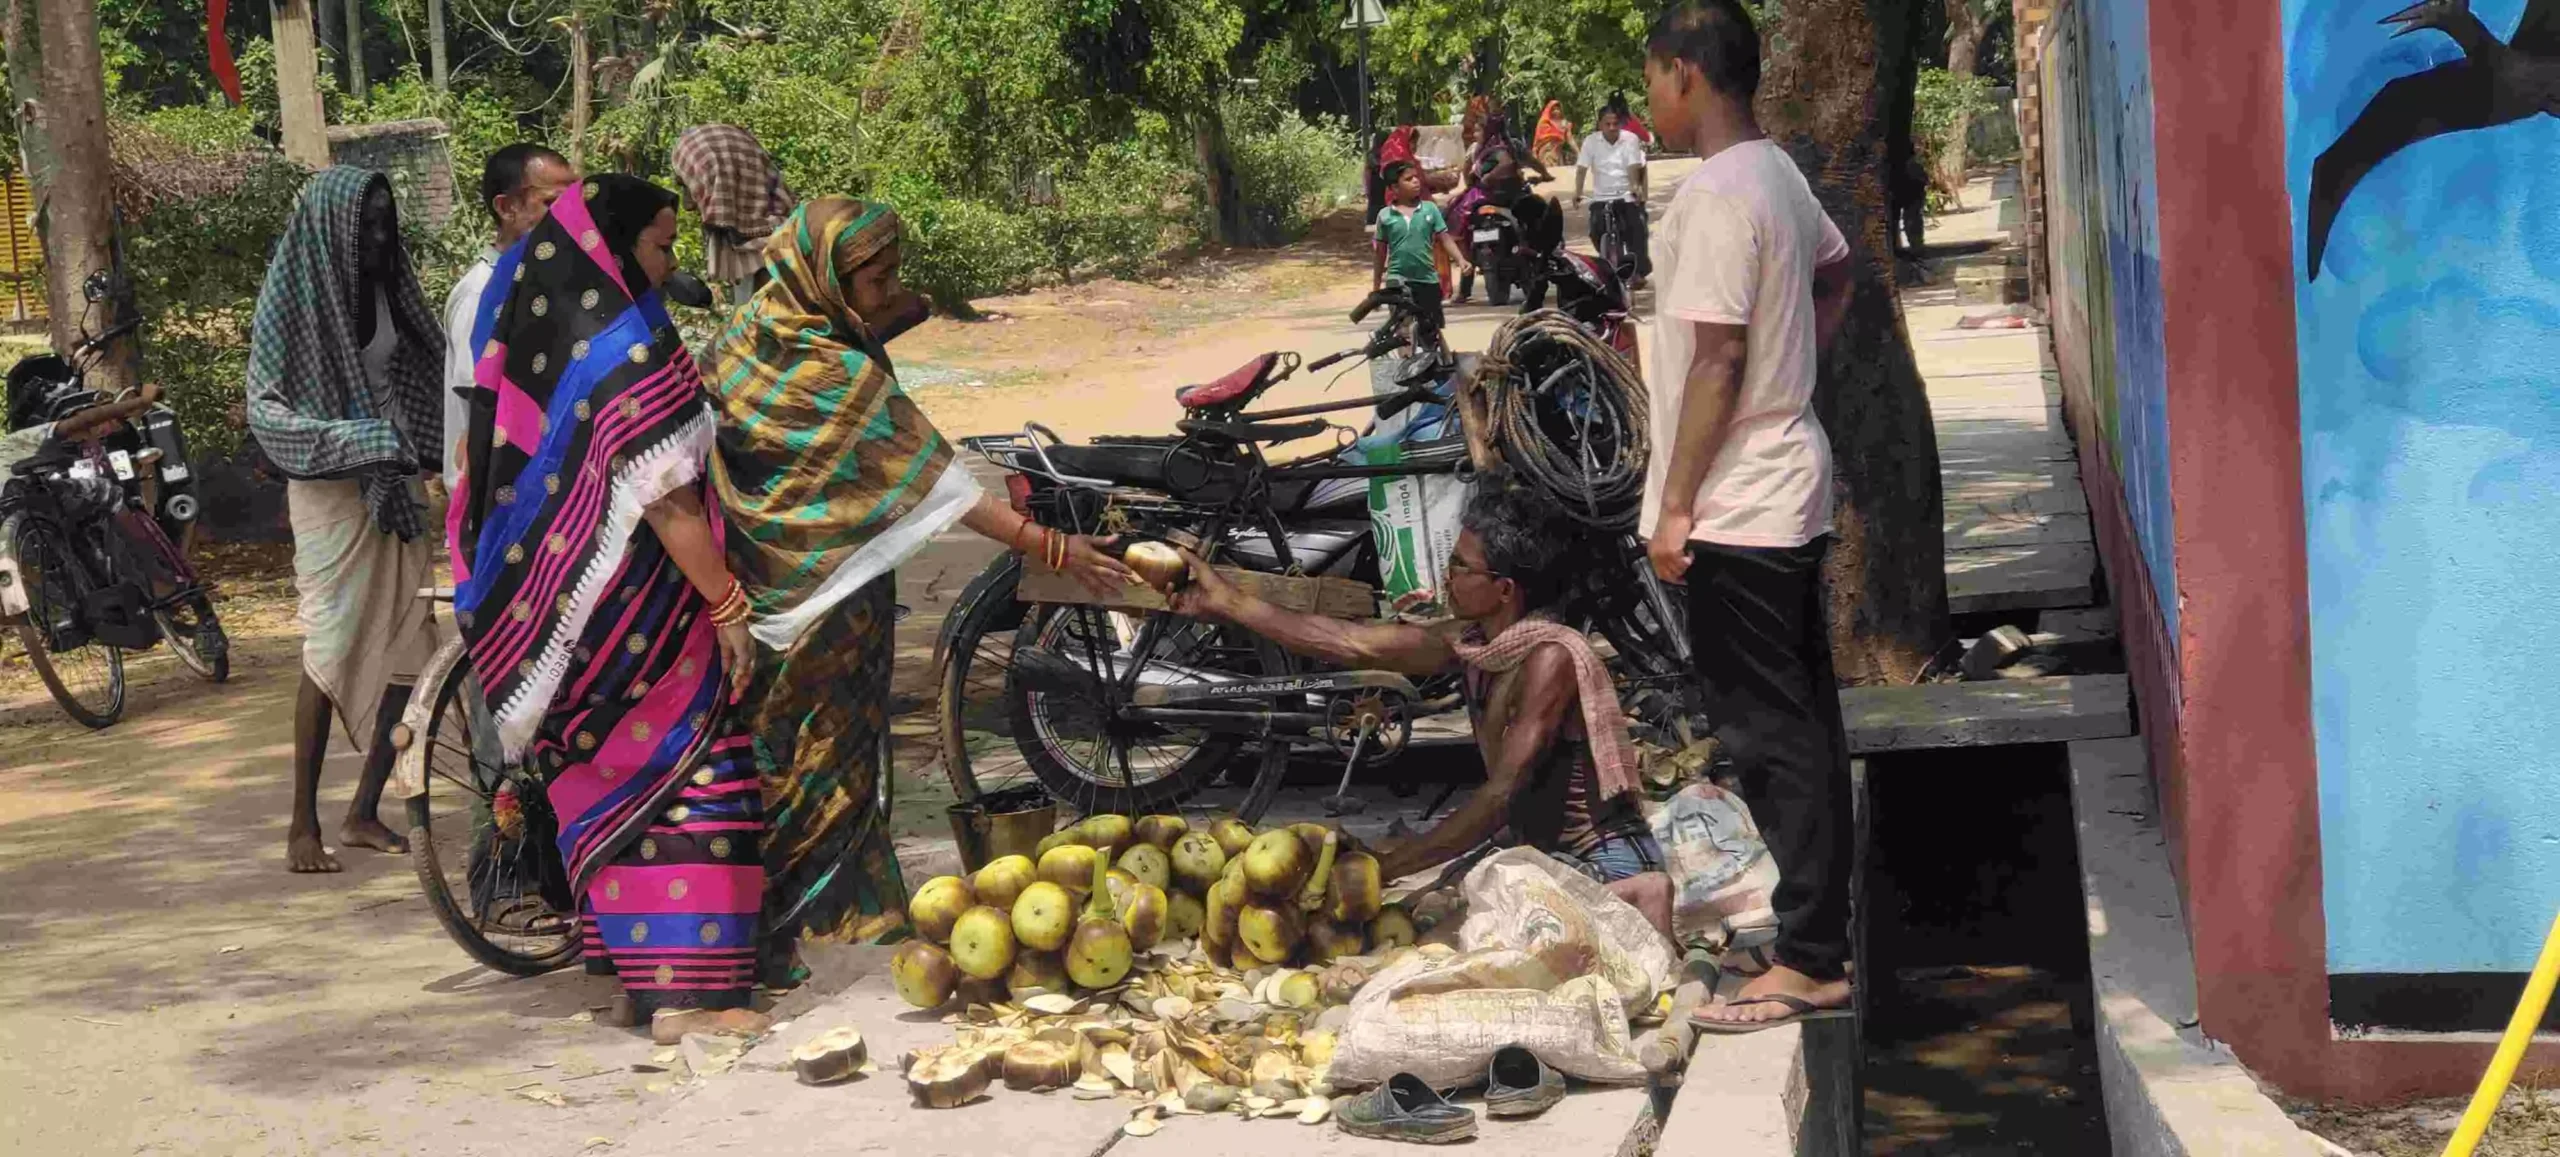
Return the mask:
[[[1400,348],[1411,333],[1411,299],[1385,289],[1370,294],[1354,317],[1375,307],[1390,307],[1390,315],[1367,346],[1308,369]],[[1352,463],[1341,453],[1275,463],[1265,448],[1329,427],[1311,415],[1377,407],[1380,417],[1393,417],[1405,407],[1444,407],[1452,379],[1436,371],[1462,366],[1454,358],[1444,366],[1444,351],[1423,351],[1388,369],[1382,384],[1393,389],[1367,399],[1244,410],[1295,374],[1295,361],[1283,358],[1265,353],[1226,379],[1185,387],[1180,399],[1190,417],[1178,422],[1178,438],[1065,445],[1034,422],[1021,435],[968,438],[965,445],[1006,468],[1014,507],[1047,525],[1160,538],[1249,573],[1367,578],[1375,589],[1367,509],[1311,517],[1329,512],[1321,489],[1354,481],[1357,497],[1375,479],[1464,476],[1464,438],[1416,445],[1405,461],[1388,466]],[[1631,550],[1623,563],[1644,568],[1641,543]],[[1021,581],[1016,558],[991,563],[960,594],[934,648],[945,773],[963,801],[1029,778],[1088,814],[1139,814],[1175,806],[1224,773],[1244,788],[1236,814],[1257,822],[1280,788],[1288,758],[1329,750],[1344,770],[1326,806],[1357,811],[1359,801],[1347,796],[1354,773],[1400,758],[1418,722],[1464,709],[1454,676],[1411,681],[1385,671],[1300,671],[1277,645],[1234,627],[1091,602],[1021,602]],[[1597,573],[1592,581],[1626,586]],[[1628,694],[1646,699],[1646,686],[1664,683],[1669,712],[1684,709],[1677,689],[1684,640],[1659,637],[1661,630],[1682,630],[1677,607],[1667,599],[1644,599],[1641,607],[1618,602],[1582,599],[1605,617],[1603,635],[1636,655],[1623,663]],[[1006,747],[1014,763],[1006,763]]]

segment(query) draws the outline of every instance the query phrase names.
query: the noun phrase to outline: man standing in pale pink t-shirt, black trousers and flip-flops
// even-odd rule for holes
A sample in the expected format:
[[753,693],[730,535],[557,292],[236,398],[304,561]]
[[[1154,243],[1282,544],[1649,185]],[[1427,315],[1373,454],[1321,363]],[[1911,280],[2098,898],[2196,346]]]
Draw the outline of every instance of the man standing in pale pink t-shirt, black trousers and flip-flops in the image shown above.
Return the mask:
[[1700,156],[1654,235],[1654,456],[1644,535],[1690,589],[1708,717],[1779,886],[1777,965],[1697,1014],[1754,1032],[1848,1009],[1848,742],[1823,553],[1830,440],[1812,366],[1848,307],[1848,243],[1751,118],[1759,31],[1733,0],[1672,8],[1644,79],[1664,146]]

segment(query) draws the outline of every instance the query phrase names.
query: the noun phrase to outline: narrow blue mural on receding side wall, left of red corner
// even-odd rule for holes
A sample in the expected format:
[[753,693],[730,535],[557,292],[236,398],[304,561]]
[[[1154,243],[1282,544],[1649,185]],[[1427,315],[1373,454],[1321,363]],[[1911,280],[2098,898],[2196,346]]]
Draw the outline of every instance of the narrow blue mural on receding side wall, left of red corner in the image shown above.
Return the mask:
[[2056,102],[2045,154],[2053,340],[2086,376],[2161,625],[2176,637],[2150,18],[2143,0],[2081,0],[2056,20],[2056,44],[2045,56],[2045,92]]

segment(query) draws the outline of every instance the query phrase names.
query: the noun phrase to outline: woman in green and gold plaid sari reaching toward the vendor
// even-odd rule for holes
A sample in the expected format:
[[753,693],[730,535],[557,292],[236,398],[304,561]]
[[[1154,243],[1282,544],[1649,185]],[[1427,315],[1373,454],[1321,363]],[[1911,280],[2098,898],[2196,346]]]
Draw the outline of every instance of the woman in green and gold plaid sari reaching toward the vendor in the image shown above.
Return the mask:
[[1134,581],[1096,540],[986,494],[899,389],[886,343],[927,317],[899,282],[899,215],[822,197],[765,241],[763,284],[719,335],[712,479],[730,568],[763,645],[748,691],[765,794],[768,985],[801,937],[906,929],[906,883],[878,806],[888,776],[891,571],[960,522],[1085,586]]

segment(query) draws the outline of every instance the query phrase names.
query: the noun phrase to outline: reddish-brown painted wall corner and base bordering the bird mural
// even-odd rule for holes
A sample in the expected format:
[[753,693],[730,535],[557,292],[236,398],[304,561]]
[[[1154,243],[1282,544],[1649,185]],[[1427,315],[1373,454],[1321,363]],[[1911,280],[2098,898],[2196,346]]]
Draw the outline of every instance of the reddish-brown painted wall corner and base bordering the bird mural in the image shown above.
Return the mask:
[[[2204,1032],[2294,1096],[2465,1093],[2488,1044],[2340,1042],[2327,1014],[2312,753],[2294,220],[2278,5],[2150,0],[2176,681],[2115,471],[2084,468],[2196,945]],[[2102,440],[2084,438],[2084,453]],[[2158,704],[2166,689],[2176,704]],[[2168,706],[2168,709],[2163,709]],[[2168,742],[2163,745],[2163,732]],[[2166,750],[2163,750],[2166,747]],[[2532,1067],[2560,1065],[2534,1049]]]

